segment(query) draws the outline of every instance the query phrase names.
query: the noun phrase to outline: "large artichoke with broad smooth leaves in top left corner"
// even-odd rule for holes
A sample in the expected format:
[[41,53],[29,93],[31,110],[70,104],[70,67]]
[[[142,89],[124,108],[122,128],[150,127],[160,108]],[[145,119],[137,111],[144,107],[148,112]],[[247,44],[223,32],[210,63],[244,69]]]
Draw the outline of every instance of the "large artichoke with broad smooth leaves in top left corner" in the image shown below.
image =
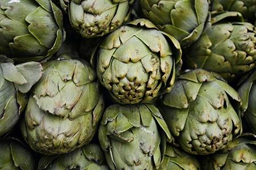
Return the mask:
[[0,37],[1,54],[16,62],[42,61],[63,42],[63,14],[50,0],[1,0]]

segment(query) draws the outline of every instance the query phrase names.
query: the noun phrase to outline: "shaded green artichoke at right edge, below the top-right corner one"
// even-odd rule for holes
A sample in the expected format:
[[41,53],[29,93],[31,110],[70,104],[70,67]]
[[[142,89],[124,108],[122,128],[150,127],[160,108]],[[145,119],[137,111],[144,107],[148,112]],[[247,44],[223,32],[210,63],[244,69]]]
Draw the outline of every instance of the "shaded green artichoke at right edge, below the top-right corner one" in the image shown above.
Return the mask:
[[250,71],[256,61],[254,25],[247,22],[228,22],[227,12],[214,16],[214,23],[191,46],[184,49],[183,61],[189,69],[217,72],[231,82]]

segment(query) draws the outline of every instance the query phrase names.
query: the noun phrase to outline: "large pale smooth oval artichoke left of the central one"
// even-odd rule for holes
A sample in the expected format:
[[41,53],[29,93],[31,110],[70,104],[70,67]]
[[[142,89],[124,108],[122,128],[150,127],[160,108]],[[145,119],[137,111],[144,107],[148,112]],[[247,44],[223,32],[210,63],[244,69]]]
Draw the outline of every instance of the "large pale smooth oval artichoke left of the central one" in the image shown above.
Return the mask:
[[23,138],[41,154],[63,154],[88,144],[104,111],[95,71],[61,54],[43,64],[21,122]]

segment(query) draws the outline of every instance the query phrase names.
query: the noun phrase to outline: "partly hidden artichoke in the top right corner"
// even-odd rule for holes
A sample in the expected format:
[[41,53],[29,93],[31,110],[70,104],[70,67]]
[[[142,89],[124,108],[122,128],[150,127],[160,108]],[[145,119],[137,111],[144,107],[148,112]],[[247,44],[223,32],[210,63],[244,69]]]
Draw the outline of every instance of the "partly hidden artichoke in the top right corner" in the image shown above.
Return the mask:
[[237,11],[240,12],[246,22],[254,24],[256,1],[255,0],[210,0],[210,11]]

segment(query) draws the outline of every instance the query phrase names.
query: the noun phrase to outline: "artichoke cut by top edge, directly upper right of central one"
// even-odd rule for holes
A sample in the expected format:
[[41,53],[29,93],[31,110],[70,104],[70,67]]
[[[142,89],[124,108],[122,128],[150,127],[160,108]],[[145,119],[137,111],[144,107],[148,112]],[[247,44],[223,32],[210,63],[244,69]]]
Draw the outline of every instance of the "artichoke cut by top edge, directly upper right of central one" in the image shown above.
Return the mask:
[[196,41],[208,17],[208,0],[139,0],[142,16],[174,36],[182,47]]

